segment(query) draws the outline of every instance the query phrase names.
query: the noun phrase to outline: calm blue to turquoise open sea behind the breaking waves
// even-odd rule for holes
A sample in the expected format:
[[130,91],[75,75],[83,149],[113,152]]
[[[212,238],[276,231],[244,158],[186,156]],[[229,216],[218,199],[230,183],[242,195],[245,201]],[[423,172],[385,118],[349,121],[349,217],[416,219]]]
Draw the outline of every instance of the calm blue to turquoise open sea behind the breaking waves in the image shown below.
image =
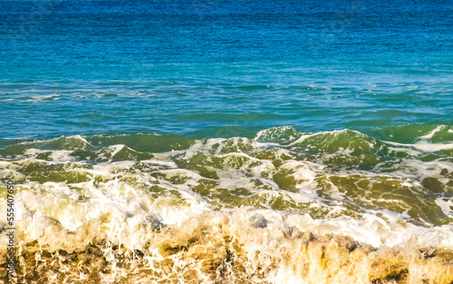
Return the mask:
[[452,1],[0,0],[0,138],[452,114]]

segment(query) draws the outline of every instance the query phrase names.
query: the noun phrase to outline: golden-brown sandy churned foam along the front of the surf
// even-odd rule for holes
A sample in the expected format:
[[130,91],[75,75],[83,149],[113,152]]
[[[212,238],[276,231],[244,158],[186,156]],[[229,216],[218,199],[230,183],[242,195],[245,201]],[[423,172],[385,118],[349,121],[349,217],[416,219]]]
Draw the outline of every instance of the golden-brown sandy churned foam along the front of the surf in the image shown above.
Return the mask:
[[[149,225],[143,228],[146,241],[139,240],[139,248],[133,251],[108,238],[93,239],[96,243],[87,240],[85,247],[72,251],[47,250],[38,241],[21,244],[17,279],[38,284],[63,279],[75,283],[179,283],[181,279],[185,283],[313,284],[453,281],[453,250],[421,250],[404,244],[373,248],[351,237],[317,236],[282,228],[281,224],[267,225],[260,218],[238,221],[210,212],[176,228],[153,229]],[[0,273],[5,275],[4,253],[1,261]]]

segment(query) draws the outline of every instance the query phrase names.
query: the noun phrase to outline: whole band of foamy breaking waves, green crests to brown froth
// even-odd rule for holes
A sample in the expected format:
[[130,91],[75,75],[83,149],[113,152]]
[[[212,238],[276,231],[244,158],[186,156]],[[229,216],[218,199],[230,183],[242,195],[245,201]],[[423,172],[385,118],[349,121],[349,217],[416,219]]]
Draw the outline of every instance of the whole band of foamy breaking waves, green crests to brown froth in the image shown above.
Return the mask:
[[[413,142],[278,127],[6,144],[16,283],[453,282],[445,125]],[[0,211],[7,188],[1,185]]]

